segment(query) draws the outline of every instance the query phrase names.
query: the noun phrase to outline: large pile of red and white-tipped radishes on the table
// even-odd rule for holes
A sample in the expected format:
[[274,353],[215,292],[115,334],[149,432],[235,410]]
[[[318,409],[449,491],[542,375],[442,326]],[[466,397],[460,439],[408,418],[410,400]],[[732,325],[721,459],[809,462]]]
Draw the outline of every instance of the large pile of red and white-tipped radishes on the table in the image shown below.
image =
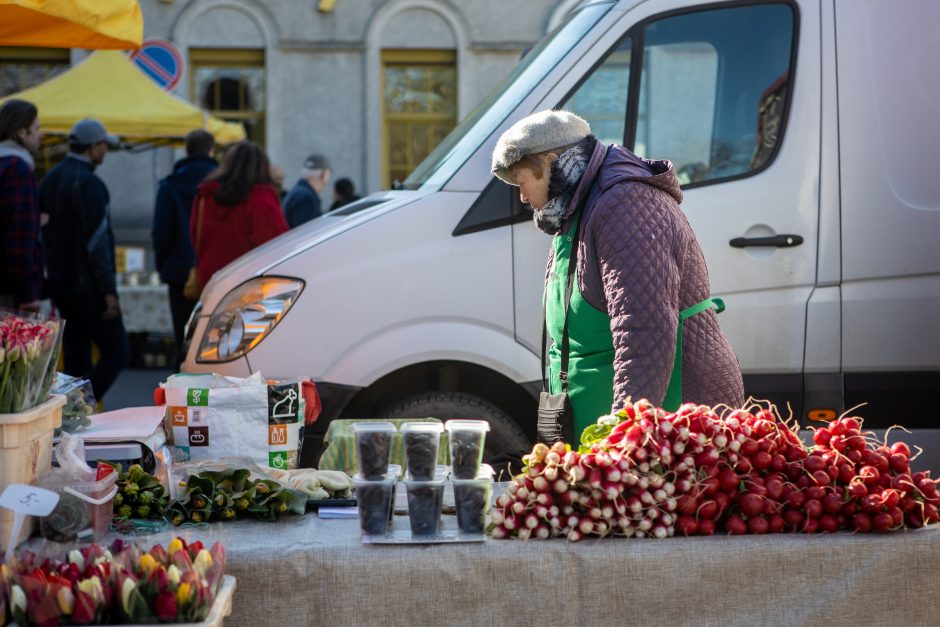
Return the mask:
[[714,533],[885,532],[940,520],[929,473],[910,449],[890,448],[857,418],[815,430],[807,449],[772,407],[646,400],[598,420],[603,437],[581,452],[537,444],[493,508],[494,538]]

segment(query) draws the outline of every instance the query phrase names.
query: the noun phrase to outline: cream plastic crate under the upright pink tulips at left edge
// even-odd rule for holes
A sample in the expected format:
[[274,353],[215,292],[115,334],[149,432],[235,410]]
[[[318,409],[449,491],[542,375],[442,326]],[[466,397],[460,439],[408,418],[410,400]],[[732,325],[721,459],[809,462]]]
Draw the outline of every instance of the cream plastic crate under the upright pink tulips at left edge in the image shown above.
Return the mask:
[[[42,405],[15,414],[0,414],[0,493],[12,483],[31,484],[52,467],[52,434],[62,426],[65,396],[53,395]],[[33,531],[28,518],[14,546]],[[13,529],[13,512],[0,508],[0,544]]]

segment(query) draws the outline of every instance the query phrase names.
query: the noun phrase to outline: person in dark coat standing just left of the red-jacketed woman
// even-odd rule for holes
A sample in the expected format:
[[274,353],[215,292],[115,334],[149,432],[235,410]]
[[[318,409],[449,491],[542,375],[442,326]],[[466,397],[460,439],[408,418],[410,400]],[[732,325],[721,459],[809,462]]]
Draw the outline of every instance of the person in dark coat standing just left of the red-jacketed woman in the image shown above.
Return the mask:
[[189,238],[196,188],[219,166],[212,158],[215,139],[203,130],[186,135],[186,157],[173,165],[173,172],[160,181],[153,211],[153,251],[160,279],[169,286],[170,314],[176,337],[176,369],[183,354],[183,329],[196,301],[183,295],[189,270],[196,261]]

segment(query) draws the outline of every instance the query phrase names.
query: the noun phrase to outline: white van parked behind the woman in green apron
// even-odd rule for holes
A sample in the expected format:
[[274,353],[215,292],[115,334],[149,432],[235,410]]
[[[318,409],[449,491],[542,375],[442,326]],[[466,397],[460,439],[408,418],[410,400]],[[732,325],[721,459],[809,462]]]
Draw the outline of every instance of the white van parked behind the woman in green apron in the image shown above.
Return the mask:
[[869,427],[934,426],[938,58],[935,0],[587,4],[404,190],[217,273],[184,370],[308,375],[319,433],[336,417],[484,417],[494,449],[525,445],[550,241],[490,155],[516,120],[565,108],[675,163],[749,394],[804,421],[867,402]]

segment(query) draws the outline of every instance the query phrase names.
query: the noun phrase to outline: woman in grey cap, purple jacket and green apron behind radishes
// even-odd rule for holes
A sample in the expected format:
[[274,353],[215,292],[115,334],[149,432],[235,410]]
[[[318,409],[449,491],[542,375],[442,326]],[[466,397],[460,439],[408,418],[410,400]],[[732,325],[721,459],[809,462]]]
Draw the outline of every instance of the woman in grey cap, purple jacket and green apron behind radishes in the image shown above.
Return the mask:
[[541,111],[502,134],[492,172],[519,188],[552,237],[547,391],[568,395],[573,424],[540,412],[540,439],[576,443],[630,398],[669,411],[743,405],[741,369],[718,326],[724,305],[711,298],[671,162],[605,146],[573,113]]

